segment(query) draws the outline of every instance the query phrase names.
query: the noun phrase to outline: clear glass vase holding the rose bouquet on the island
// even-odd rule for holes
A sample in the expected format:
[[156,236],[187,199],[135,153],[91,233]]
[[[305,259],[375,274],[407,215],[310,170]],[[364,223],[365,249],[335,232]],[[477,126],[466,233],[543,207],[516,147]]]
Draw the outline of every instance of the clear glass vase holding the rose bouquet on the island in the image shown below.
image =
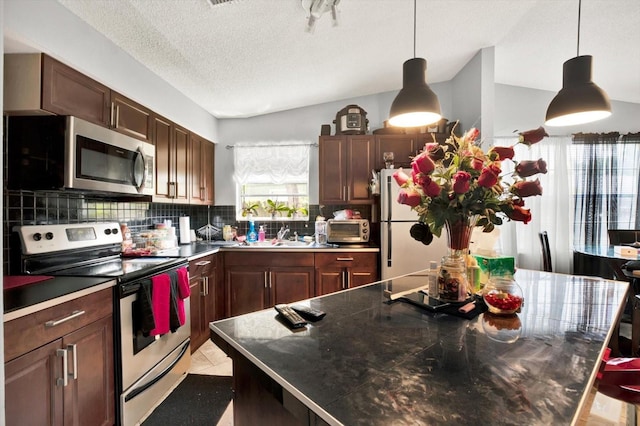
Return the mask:
[[442,258],[438,273],[438,299],[441,301],[464,302],[473,293],[467,277],[467,254],[474,225],[472,217],[445,222],[449,253]]

